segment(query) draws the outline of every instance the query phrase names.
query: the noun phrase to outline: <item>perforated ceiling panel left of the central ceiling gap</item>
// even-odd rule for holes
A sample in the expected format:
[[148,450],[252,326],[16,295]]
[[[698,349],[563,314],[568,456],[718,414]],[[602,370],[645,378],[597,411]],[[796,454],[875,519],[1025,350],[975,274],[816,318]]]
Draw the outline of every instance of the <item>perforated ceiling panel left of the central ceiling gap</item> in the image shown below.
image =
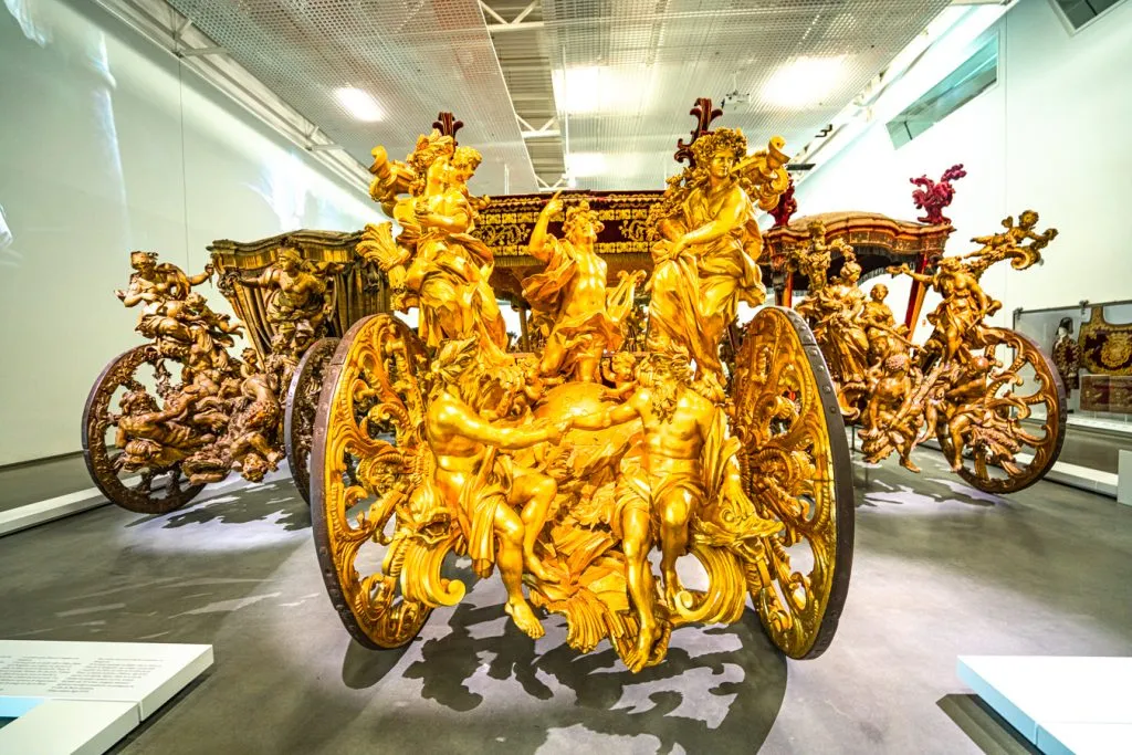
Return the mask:
[[[475,0],[169,0],[350,155],[412,149],[438,111],[464,122],[461,144],[483,153],[472,189],[535,190],[483,16]],[[368,94],[383,114],[365,122],[335,94]],[[505,179],[504,165],[508,166]]]

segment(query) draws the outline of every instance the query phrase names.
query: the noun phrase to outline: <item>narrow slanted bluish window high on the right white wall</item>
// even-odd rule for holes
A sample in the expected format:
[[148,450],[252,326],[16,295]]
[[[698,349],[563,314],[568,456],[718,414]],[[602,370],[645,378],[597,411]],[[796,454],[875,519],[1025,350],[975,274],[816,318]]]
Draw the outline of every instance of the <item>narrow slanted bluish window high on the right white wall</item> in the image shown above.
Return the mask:
[[998,35],[962,66],[889,121],[889,138],[898,149],[955,112],[998,80]]

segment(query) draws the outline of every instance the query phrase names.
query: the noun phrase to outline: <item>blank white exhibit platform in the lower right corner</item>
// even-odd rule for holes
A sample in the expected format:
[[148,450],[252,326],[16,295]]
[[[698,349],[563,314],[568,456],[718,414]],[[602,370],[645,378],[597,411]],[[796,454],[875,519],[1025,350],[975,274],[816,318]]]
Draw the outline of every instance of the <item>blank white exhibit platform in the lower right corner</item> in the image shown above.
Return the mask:
[[961,655],[958,674],[1046,755],[1132,752],[1132,658]]

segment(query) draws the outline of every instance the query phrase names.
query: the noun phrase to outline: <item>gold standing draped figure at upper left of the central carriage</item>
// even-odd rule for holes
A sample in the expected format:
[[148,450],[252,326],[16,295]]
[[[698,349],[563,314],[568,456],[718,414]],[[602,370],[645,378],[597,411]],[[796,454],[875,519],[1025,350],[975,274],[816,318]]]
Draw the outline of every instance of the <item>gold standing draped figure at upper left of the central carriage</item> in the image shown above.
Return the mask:
[[395,309],[420,308],[426,345],[475,336],[492,358],[506,361],[507,332],[488,282],[495,256],[471,234],[478,209],[466,179],[479,153],[462,147],[457,169],[456,152],[452,137],[439,131],[421,136],[405,163],[389,161],[381,147],[374,149],[370,196],[402,231],[394,240],[389,223],[369,224],[358,251],[388,276]]

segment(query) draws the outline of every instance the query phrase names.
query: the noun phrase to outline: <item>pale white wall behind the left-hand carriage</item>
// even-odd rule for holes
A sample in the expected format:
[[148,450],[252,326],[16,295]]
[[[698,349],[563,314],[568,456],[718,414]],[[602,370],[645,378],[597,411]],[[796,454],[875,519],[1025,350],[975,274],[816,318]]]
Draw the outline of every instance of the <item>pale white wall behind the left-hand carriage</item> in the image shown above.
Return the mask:
[[85,0],[0,7],[0,465],[79,448],[92,383],[140,342],[113,295],[131,249],[196,273],[214,239],[379,220],[365,187]]

